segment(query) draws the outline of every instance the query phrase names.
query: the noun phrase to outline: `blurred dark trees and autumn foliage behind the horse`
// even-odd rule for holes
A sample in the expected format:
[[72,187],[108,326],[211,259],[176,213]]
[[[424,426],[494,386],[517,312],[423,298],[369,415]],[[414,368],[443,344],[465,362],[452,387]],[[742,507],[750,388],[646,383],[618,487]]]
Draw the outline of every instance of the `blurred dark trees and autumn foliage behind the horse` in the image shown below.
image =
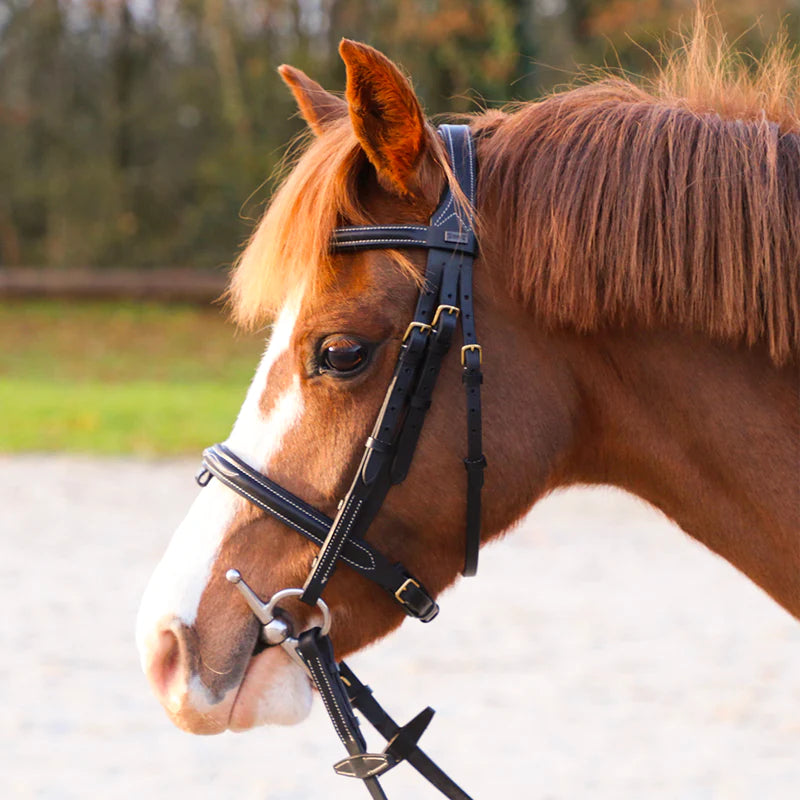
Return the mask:
[[[718,0],[758,53],[795,2]],[[275,67],[341,90],[342,36],[428,112],[531,99],[587,64],[653,66],[691,0],[2,0],[0,265],[229,263],[302,129]],[[760,20],[756,24],[757,20]]]

